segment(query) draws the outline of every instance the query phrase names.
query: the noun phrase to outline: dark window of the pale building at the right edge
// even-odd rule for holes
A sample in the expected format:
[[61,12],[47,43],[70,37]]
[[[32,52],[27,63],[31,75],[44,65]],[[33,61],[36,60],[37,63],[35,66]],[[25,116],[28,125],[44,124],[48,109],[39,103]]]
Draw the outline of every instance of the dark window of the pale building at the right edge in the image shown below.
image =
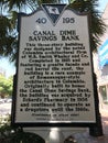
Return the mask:
[[106,86],[100,87],[101,98],[104,103],[108,105],[107,89]]

